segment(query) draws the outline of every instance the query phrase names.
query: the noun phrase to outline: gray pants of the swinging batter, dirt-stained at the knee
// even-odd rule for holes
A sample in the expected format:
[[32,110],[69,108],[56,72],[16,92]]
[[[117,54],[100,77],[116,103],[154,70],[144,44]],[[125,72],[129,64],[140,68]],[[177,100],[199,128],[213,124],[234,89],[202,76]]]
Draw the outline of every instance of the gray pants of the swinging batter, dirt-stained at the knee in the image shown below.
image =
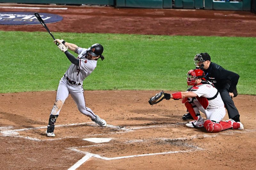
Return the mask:
[[83,85],[73,85],[64,77],[60,79],[56,95],[56,102],[52,107],[51,115],[59,115],[60,109],[67,99],[69,93],[76,102],[78,110],[82,114],[90,117],[91,119],[96,117],[92,110],[85,105]]

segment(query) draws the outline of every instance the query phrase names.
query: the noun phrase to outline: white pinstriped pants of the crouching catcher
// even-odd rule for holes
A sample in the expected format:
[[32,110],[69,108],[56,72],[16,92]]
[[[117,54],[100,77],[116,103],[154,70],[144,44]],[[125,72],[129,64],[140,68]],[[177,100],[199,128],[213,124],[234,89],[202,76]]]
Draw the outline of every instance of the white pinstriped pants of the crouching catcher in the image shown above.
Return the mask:
[[[192,98],[189,98],[192,100]],[[204,109],[207,106],[202,106],[202,104],[197,100],[194,99],[192,105],[196,105],[196,107],[193,107],[196,114],[199,113],[199,110],[205,114],[206,119],[209,119],[211,121],[220,122],[226,115],[226,109],[223,105],[223,107],[214,108],[214,109]]]

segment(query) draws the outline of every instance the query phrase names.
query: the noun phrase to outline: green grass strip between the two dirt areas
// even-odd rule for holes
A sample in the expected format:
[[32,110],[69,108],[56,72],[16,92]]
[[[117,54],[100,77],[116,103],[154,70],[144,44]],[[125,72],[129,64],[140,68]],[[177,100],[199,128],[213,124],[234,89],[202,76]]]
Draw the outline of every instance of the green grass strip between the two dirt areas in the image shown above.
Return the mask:
[[[84,48],[103,45],[105,60],[99,60],[85,79],[86,90],[183,91],[186,74],[195,67],[194,56],[208,52],[212,62],[240,75],[240,94],[256,95],[256,39],[252,37],[53,34]],[[1,93],[57,89],[70,62],[47,32],[0,31],[0,39]]]

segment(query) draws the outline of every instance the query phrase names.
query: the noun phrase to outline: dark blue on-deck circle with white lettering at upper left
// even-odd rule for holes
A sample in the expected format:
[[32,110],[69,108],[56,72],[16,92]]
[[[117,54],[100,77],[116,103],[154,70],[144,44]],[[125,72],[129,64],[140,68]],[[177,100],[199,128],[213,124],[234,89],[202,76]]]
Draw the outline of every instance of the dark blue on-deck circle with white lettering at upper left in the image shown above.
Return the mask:
[[[59,15],[39,13],[45,24],[59,22],[63,18]],[[1,25],[34,25],[41,24],[34,15],[34,12],[0,12]]]

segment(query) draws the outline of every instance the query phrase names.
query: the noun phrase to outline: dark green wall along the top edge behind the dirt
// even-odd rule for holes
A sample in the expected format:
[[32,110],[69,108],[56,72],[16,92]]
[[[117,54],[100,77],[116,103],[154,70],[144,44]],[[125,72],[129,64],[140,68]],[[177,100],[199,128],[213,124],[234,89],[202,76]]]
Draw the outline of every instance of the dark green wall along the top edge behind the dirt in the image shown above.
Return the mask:
[[243,0],[241,2],[228,2],[215,0],[0,0],[0,3],[22,4],[90,4],[110,5],[131,8],[181,8],[205,10],[232,10],[251,11],[255,9],[256,0]]

